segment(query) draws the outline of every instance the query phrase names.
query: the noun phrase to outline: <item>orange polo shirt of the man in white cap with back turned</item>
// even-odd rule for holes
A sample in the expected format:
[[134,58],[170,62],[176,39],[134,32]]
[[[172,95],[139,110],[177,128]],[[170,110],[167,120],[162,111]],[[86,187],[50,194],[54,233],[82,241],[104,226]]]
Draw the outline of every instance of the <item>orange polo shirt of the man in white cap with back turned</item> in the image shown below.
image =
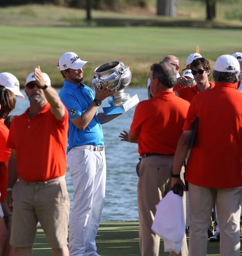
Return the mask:
[[237,84],[215,84],[194,97],[184,131],[193,129],[196,117],[186,180],[211,188],[242,186],[242,93]]

